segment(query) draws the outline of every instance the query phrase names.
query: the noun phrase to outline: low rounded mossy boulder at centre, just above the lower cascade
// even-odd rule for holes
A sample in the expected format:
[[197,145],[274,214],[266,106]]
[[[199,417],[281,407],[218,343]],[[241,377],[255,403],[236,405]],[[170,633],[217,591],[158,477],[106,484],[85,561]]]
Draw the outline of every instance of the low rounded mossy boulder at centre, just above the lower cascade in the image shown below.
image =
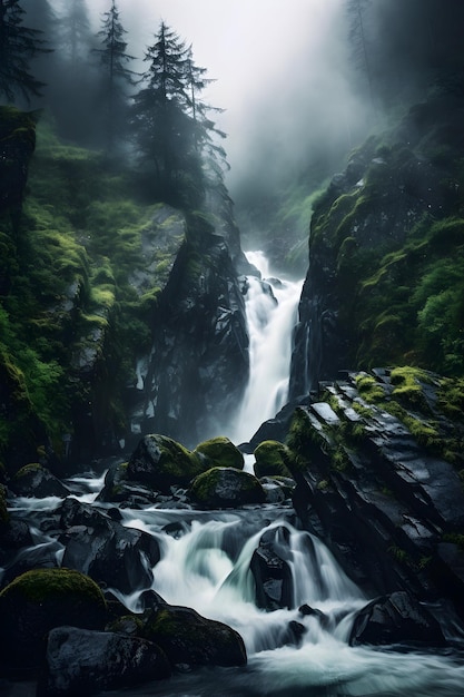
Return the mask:
[[192,501],[205,508],[235,508],[266,500],[258,479],[234,468],[211,468],[199,474],[189,494]]

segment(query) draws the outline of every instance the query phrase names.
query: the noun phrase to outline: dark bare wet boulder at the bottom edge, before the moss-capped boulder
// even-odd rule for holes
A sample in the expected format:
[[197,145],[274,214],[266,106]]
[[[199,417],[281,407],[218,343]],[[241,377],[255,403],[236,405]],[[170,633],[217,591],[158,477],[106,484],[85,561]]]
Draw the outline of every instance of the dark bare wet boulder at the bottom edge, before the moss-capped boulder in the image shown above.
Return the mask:
[[169,662],[157,646],[127,635],[76,627],[52,629],[37,697],[92,695],[168,678]]

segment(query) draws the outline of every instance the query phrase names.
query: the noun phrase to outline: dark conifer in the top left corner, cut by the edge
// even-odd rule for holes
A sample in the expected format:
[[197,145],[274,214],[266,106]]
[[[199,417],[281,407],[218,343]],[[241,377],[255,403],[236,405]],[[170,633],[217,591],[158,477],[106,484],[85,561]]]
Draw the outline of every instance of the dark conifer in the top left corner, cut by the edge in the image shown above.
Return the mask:
[[45,87],[30,72],[30,62],[50,49],[41,31],[23,26],[23,14],[19,0],[0,0],[0,96],[10,102],[21,97],[29,104]]

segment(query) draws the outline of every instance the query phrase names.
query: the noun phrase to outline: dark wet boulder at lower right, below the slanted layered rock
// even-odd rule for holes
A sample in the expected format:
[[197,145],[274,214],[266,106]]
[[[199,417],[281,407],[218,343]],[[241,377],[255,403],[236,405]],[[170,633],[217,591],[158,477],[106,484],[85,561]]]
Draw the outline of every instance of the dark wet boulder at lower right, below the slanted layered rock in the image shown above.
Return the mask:
[[351,646],[413,644],[446,645],[434,616],[406,591],[396,591],[359,610],[349,636]]

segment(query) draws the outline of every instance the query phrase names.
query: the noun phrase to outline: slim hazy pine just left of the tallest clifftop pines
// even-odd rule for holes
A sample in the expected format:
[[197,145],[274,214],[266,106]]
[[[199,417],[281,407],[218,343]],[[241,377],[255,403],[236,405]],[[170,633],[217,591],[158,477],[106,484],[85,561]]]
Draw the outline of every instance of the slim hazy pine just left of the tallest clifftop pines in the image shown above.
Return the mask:
[[128,63],[135,60],[126,52],[127,42],[125,35],[127,31],[119,19],[119,10],[116,0],[111,0],[110,9],[105,12],[101,30],[98,36],[101,38],[103,48],[93,49],[100,57],[103,67],[103,98],[105,125],[107,135],[107,148],[113,147],[115,135],[122,129],[125,112],[127,111],[127,96],[125,87],[134,86],[135,72],[128,68]]

